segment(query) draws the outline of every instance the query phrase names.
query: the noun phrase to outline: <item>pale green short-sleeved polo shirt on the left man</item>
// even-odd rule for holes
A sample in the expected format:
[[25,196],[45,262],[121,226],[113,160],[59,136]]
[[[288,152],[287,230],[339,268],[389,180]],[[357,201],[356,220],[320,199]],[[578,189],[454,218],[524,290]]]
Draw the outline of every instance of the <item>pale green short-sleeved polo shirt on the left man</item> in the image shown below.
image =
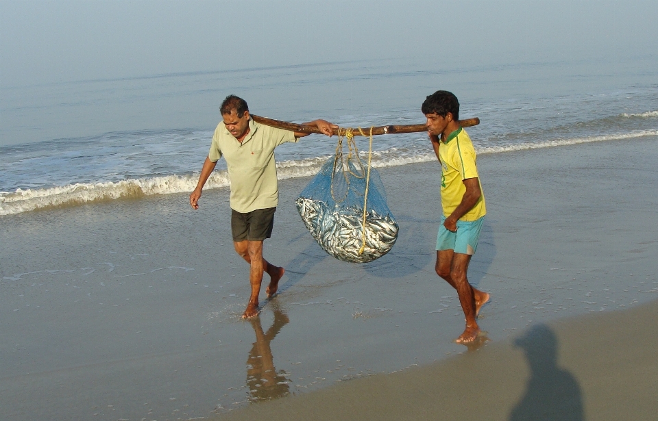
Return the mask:
[[293,131],[249,120],[249,134],[240,143],[226,129],[223,121],[217,125],[208,159],[217,162],[224,157],[226,160],[231,181],[231,209],[246,214],[278,205],[279,186],[274,148],[297,140]]

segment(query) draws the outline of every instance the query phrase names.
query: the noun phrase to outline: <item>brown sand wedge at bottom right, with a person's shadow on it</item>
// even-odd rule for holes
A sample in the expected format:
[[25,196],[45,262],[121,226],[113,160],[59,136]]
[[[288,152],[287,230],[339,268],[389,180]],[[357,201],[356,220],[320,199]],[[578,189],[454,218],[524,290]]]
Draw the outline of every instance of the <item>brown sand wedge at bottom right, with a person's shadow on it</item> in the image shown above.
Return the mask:
[[[534,324],[428,366],[251,405],[219,420],[653,420],[658,303]],[[653,415],[652,415],[653,414]]]

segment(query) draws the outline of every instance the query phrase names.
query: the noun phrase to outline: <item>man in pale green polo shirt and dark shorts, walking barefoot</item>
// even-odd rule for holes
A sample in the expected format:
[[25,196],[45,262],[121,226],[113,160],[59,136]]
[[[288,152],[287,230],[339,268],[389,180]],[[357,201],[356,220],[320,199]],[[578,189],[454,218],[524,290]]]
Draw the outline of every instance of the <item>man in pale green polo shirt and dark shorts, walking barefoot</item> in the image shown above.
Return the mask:
[[[190,205],[199,208],[202,189],[215,169],[219,158],[224,157],[231,180],[231,230],[235,251],[249,263],[249,283],[252,293],[243,318],[258,314],[258,294],[263,272],[270,277],[267,296],[276,294],[278,283],[285,272],[263,259],[263,240],[270,238],[274,212],[278,205],[279,190],[276,179],[274,148],[285,142],[297,142],[308,133],[298,133],[260,125],[249,117],[244,99],[229,95],[219,109],[223,121],[212,136],[210,152],[199,175],[197,187],[190,194]],[[303,125],[315,126],[332,136],[332,125],[326,120],[315,120]]]

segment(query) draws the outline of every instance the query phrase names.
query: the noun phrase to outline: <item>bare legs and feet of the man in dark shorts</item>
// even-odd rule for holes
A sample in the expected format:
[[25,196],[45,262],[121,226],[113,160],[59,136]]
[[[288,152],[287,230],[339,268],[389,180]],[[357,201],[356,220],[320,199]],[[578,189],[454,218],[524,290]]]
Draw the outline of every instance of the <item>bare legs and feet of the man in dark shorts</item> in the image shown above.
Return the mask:
[[260,285],[263,283],[263,271],[267,272],[270,277],[269,286],[267,287],[267,296],[273,296],[278,288],[278,283],[285,272],[284,268],[274,266],[269,261],[263,259],[263,241],[233,242],[236,253],[240,255],[249,264],[249,284],[252,287],[252,294],[249,296],[247,309],[242,315],[243,318],[254,317],[258,314],[258,294],[260,294]]

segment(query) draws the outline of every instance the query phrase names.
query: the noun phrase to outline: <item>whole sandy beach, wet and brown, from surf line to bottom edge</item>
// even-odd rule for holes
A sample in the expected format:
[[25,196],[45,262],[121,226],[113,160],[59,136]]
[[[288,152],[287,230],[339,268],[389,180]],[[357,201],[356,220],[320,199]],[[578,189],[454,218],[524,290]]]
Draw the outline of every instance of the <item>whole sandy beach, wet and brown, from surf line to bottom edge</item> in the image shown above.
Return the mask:
[[[309,179],[281,181],[264,255],[287,272],[249,321],[226,189],[197,211],[172,194],[3,216],[2,418],[452,419],[468,389],[483,419],[558,404],[563,419],[647,419],[657,144],[478,157],[488,214],[469,275],[492,296],[479,349],[452,342],[463,314],[434,272],[435,162],[380,170],[400,237],[363,265],[304,228],[293,201]],[[551,387],[572,397],[545,400]]]

